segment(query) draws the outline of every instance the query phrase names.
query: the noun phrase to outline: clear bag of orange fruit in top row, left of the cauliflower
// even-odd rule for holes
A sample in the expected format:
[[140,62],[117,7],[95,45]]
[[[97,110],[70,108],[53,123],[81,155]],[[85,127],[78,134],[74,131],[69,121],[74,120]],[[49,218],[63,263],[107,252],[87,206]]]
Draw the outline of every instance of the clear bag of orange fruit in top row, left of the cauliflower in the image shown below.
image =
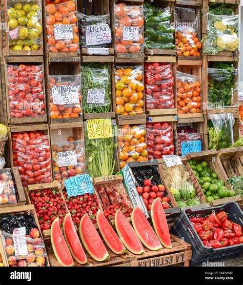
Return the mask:
[[175,49],[178,56],[200,56],[199,9],[175,7]]

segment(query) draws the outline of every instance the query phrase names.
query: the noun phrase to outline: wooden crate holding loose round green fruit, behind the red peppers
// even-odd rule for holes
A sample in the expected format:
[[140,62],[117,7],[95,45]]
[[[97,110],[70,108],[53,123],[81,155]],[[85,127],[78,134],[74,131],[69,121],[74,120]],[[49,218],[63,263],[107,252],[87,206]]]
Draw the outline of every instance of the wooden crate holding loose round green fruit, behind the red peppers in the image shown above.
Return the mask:
[[[194,153],[189,153],[187,155],[188,160],[189,159],[193,159],[196,161],[207,161],[209,167],[217,173],[218,178],[220,180],[223,180],[225,182],[225,186],[230,189],[233,190],[231,185],[228,184],[227,182],[227,178],[226,178],[226,173],[224,171],[224,168],[221,165],[220,159],[218,157],[217,151],[216,150],[208,150],[208,151],[202,151],[202,152],[194,152]],[[214,206],[218,206],[218,205],[222,205],[226,202],[230,202],[230,201],[240,201],[241,198],[239,195],[234,196],[234,197],[227,197],[227,198],[222,198],[222,199],[218,199],[218,200],[213,200],[211,202],[211,205]]]

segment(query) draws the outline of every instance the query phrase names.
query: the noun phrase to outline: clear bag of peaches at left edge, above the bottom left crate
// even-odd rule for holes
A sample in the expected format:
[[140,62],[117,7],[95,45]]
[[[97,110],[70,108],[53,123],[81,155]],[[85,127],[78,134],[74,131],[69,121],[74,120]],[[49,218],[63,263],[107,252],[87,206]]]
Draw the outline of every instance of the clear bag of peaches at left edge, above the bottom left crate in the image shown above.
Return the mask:
[[15,192],[10,169],[0,169],[0,205],[17,203]]

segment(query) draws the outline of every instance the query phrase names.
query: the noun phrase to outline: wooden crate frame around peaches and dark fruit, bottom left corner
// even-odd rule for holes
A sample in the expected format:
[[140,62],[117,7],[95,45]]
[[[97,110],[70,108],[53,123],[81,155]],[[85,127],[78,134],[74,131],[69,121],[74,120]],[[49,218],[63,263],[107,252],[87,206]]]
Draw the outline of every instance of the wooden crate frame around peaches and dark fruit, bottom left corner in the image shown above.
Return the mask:
[[[36,216],[36,212],[35,212],[33,205],[23,205],[23,206],[16,206],[16,207],[10,207],[10,208],[8,208],[8,207],[0,208],[0,215],[6,215],[6,214],[32,214],[34,216],[37,229],[38,230],[40,229],[38,218]],[[42,240],[44,240],[40,230],[39,230],[39,233],[40,233],[40,237],[42,238]],[[2,244],[1,241],[2,241],[2,233],[0,231],[0,252],[1,252],[1,244]],[[47,251],[47,249],[46,249],[46,251]],[[5,251],[4,251],[4,254],[5,254],[5,260],[7,261],[8,258],[7,258],[7,254]],[[48,256],[45,256],[45,258],[47,260],[48,266],[50,266]],[[7,266],[9,266],[8,262],[7,262]]]

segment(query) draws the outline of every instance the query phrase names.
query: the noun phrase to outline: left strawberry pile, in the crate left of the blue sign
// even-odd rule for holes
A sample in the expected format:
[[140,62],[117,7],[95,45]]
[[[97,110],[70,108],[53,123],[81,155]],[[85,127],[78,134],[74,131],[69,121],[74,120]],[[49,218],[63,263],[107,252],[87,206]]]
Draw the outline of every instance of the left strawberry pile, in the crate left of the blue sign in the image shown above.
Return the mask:
[[57,216],[62,225],[67,214],[66,203],[57,189],[33,190],[30,191],[29,198],[35,207],[41,231],[49,230]]

